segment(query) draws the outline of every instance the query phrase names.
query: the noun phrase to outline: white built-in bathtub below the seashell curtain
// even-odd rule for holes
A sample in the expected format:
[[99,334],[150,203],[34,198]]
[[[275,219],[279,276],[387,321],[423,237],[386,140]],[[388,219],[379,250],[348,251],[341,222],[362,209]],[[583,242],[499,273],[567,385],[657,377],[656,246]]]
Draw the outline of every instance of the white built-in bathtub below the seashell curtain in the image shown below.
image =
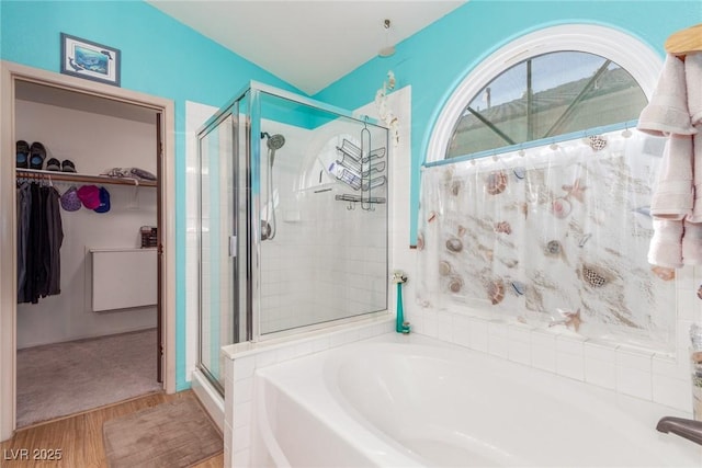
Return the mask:
[[252,466],[700,467],[680,412],[420,335],[257,369]]

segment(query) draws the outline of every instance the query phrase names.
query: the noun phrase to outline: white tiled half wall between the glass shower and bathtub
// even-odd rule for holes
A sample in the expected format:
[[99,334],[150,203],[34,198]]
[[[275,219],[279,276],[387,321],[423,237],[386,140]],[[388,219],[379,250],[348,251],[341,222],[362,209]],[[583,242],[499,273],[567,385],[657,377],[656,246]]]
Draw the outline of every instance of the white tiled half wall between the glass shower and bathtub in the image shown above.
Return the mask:
[[[225,467],[248,467],[251,463],[253,373],[273,364],[318,353],[343,344],[392,332],[392,319],[376,319],[347,326],[331,332],[259,349],[238,351],[237,345],[223,349],[226,357],[225,378]],[[241,343],[248,345],[248,343]]]

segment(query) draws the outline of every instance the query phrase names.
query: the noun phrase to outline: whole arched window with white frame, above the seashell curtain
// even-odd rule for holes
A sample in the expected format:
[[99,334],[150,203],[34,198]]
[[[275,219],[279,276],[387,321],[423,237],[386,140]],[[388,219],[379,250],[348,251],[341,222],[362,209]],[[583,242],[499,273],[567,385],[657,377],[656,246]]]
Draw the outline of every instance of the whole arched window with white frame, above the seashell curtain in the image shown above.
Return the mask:
[[523,36],[479,64],[449,98],[427,162],[635,121],[660,65],[645,44],[609,27],[562,25]]

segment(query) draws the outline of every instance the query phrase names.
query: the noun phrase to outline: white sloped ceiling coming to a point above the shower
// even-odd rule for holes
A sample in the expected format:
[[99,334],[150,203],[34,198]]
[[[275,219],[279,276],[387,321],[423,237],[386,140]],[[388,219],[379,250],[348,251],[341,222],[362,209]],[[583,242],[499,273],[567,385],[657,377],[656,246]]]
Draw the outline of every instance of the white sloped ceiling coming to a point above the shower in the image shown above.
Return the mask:
[[[149,0],[148,3],[314,94],[466,0]],[[383,22],[390,20],[390,28]]]

